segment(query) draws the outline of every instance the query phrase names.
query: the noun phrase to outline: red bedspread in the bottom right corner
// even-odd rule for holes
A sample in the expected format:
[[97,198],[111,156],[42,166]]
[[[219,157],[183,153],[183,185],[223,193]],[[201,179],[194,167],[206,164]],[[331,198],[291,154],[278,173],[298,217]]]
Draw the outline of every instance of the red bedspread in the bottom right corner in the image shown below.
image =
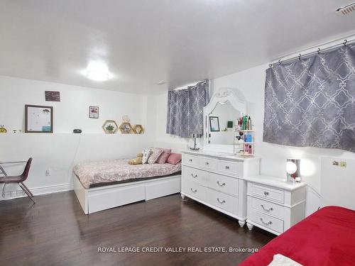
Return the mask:
[[324,207],[271,240],[240,266],[268,265],[275,254],[304,266],[355,265],[355,211]]

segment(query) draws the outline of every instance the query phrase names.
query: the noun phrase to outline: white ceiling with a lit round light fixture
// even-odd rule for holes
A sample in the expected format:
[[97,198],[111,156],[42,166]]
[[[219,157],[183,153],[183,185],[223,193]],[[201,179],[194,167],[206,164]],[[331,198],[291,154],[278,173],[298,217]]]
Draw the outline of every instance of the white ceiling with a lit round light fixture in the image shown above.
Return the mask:
[[[0,74],[158,93],[354,32],[355,13],[334,13],[349,2],[1,0]],[[84,77],[92,60],[114,77]]]

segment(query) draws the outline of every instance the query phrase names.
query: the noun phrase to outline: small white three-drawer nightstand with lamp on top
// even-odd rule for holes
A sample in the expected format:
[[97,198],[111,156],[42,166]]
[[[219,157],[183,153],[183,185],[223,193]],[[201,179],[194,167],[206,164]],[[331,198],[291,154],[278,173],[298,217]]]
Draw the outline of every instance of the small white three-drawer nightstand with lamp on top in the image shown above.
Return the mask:
[[280,235],[305,218],[305,183],[293,184],[268,176],[246,177],[246,181],[249,230],[258,226]]

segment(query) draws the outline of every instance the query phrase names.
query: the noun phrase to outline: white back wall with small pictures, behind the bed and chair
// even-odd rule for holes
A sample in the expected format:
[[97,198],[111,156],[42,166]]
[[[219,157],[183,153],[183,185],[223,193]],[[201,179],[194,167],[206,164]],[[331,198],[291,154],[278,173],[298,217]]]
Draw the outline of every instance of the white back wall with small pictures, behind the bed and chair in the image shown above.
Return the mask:
[[[60,102],[45,101],[45,90],[60,91]],[[142,148],[153,145],[155,104],[151,102],[155,102],[153,96],[0,76],[0,125],[9,132],[0,134],[0,161],[33,157],[26,184],[34,192],[70,188],[72,166],[77,162],[134,157]],[[25,104],[54,107],[53,134],[11,133],[12,129],[24,129]],[[100,107],[99,119],[88,117],[90,105]],[[132,124],[142,124],[145,133],[103,133],[106,119],[119,124],[125,114]],[[74,128],[81,128],[83,133],[72,134]],[[6,167],[8,174],[21,170],[23,165]],[[49,177],[46,170],[51,172]],[[11,196],[18,187],[8,186],[6,195]],[[43,189],[48,186],[52,188]]]

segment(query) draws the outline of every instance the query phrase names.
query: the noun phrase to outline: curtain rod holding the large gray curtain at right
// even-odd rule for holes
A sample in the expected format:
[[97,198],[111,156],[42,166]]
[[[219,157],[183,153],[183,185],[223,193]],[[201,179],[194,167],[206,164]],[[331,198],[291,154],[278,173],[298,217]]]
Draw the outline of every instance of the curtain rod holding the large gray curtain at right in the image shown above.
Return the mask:
[[[341,40],[342,40],[342,43],[337,43]],[[354,43],[354,41],[355,41],[355,35],[354,34],[348,35],[346,37],[339,38],[337,40],[332,40],[327,43],[322,43],[321,45],[315,45],[315,46],[312,46],[311,48],[306,48],[306,49],[300,50],[299,52],[292,52],[288,55],[283,55],[283,56],[279,57],[279,59],[272,60],[272,62],[268,66],[273,67],[273,65],[275,63],[280,64],[282,62],[290,62],[290,61],[297,60],[297,59],[300,60],[302,57],[308,57],[310,55],[320,54],[321,52],[332,50],[332,49],[338,48],[342,45]],[[326,47],[322,48],[324,46],[326,46]],[[315,48],[317,48],[317,50],[312,50]],[[312,51],[307,52],[308,50],[312,50]],[[298,55],[295,55],[297,53],[298,53]],[[295,56],[292,56],[292,55],[295,55]],[[290,57],[290,56],[292,56],[292,57]],[[283,59],[283,58],[285,58],[285,59]]]

